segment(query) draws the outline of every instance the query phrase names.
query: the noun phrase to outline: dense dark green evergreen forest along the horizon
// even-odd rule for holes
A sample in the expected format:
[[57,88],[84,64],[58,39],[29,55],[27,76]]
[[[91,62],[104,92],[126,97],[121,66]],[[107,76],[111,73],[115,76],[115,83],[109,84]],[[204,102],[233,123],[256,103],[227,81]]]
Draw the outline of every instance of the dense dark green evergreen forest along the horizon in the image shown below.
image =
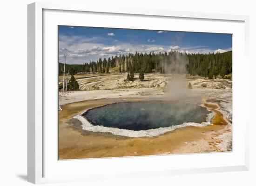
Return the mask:
[[[187,73],[202,77],[225,77],[232,74],[232,51],[224,53],[209,54],[187,54],[177,51],[159,52],[159,53],[129,53],[128,55],[119,55],[111,58],[99,58],[99,60],[90,61],[84,64],[66,64],[66,69],[71,74],[77,73],[109,73],[110,69],[117,68],[116,71],[134,73],[167,73],[166,66],[171,65],[173,60],[179,57],[185,58]],[[64,64],[59,63],[59,75]]]

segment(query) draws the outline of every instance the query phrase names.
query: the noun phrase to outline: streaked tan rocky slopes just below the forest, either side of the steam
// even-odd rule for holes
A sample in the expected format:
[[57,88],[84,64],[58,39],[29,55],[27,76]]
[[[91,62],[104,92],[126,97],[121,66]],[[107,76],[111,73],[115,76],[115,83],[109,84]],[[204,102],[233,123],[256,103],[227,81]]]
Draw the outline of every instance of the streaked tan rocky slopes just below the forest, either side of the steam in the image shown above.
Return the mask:
[[[94,76],[77,79],[80,90],[115,90],[127,88],[165,88],[171,75],[168,74],[147,74],[144,81],[139,80],[135,74],[135,81],[126,81],[127,74]],[[232,80],[213,79],[203,77],[189,78],[193,89],[232,89]]]

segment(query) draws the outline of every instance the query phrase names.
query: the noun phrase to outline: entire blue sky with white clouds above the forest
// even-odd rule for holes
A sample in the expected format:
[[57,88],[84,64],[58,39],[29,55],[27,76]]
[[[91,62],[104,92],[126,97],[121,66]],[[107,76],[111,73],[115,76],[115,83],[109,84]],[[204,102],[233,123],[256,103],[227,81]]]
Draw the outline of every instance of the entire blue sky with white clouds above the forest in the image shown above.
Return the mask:
[[83,64],[129,52],[232,50],[232,34],[59,26],[59,62]]

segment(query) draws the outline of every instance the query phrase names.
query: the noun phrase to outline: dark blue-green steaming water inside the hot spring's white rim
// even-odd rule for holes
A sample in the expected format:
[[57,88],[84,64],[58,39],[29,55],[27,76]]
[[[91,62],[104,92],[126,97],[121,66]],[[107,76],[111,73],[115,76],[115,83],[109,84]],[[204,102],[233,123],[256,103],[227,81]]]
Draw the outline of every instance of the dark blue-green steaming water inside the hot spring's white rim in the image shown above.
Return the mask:
[[188,122],[201,124],[206,122],[209,113],[207,109],[196,104],[149,101],[109,104],[89,109],[81,116],[93,126],[147,131],[180,126]]

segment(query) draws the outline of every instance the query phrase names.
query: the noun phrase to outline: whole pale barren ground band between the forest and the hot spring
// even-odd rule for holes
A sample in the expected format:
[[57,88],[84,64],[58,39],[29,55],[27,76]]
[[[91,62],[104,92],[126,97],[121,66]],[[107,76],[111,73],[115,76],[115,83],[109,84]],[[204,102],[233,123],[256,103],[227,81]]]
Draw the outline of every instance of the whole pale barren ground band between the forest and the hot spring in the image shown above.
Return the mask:
[[[60,91],[59,103],[63,105],[101,98],[169,96],[177,93],[179,88],[176,85],[174,88],[168,85],[175,77],[170,74],[146,74],[143,81],[139,80],[138,74],[135,74],[135,81],[126,81],[126,77],[126,73],[79,77],[77,81],[81,91]],[[232,80],[189,77],[179,83],[183,83],[184,90],[182,89],[181,93],[186,93],[182,99],[190,99],[196,103],[202,103],[202,98],[212,99],[211,101],[218,103],[224,112],[232,113]],[[187,89],[189,83],[192,89]],[[177,96],[180,96],[180,92]],[[229,114],[229,117],[232,119],[232,114]]]

